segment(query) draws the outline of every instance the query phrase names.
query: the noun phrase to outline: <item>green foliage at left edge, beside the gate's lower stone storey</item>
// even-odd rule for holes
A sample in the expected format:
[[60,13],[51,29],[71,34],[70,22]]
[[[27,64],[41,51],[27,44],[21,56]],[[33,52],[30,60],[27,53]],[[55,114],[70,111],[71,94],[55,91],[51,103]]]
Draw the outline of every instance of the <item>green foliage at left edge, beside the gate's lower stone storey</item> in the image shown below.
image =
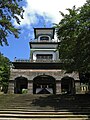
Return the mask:
[[10,77],[10,60],[0,53],[0,87],[7,93],[8,81]]

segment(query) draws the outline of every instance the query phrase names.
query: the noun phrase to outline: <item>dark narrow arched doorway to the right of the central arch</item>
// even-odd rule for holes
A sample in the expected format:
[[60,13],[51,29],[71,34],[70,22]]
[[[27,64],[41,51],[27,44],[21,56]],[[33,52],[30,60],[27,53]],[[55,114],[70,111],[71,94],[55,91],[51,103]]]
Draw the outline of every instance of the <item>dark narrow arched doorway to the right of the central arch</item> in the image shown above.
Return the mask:
[[64,94],[75,93],[75,83],[72,77],[66,76],[61,79],[61,92]]

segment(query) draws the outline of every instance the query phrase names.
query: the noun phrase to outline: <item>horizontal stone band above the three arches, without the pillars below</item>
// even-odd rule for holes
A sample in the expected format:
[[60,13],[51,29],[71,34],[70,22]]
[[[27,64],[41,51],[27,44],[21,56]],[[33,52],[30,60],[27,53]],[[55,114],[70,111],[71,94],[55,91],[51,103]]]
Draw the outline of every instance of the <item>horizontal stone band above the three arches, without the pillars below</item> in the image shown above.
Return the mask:
[[67,74],[63,70],[31,70],[31,69],[11,69],[10,80],[14,80],[17,77],[23,76],[28,80],[33,80],[39,75],[49,75],[56,80],[61,80],[65,76],[73,77],[75,80],[79,80],[78,73]]

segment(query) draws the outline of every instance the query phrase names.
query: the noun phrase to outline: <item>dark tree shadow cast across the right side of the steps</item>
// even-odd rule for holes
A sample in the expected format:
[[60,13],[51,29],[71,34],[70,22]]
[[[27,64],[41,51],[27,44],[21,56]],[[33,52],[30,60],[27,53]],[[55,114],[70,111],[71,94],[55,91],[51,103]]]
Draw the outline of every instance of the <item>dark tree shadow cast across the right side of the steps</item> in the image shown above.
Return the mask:
[[47,95],[32,101],[33,106],[54,111],[70,111],[87,114],[90,118],[90,95]]

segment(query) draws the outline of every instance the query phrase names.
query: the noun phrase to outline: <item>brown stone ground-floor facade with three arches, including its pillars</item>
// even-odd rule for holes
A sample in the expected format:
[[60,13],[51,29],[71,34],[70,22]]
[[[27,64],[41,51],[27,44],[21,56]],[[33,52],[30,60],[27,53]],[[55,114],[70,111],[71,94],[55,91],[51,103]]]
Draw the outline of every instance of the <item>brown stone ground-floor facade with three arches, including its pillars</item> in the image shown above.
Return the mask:
[[11,69],[8,93],[14,93],[14,82],[17,77],[25,77],[28,80],[28,93],[33,93],[33,79],[39,75],[52,76],[56,80],[56,94],[61,93],[61,79],[65,76],[74,78],[76,93],[80,91],[80,81],[77,73],[66,74],[63,70],[35,70],[35,69]]

